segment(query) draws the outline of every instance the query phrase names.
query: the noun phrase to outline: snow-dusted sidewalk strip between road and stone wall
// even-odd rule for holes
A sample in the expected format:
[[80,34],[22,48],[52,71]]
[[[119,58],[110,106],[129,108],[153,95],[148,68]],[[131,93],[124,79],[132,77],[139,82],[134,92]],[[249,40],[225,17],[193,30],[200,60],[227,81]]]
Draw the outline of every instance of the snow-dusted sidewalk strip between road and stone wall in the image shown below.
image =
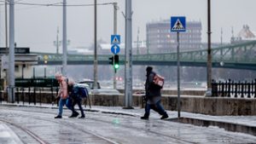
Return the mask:
[[[2,105],[23,107],[22,103],[10,104],[3,102]],[[55,104],[54,106],[52,106],[51,104],[42,104],[41,106],[34,106],[33,104],[28,105],[27,103],[25,103],[24,107],[57,108],[57,105]],[[134,107],[134,109],[123,109],[123,107],[91,106],[90,108],[89,106],[86,106],[84,110],[89,112],[123,114],[131,117],[137,117],[138,119],[143,116],[144,113],[144,109],[140,107]],[[200,113],[181,112],[181,118],[177,118],[176,111],[167,111],[167,113],[169,115],[169,118],[166,120],[186,124],[195,124],[199,126],[217,126],[224,130],[241,132],[256,136],[256,116],[211,116]],[[160,118],[160,115],[152,110],[150,113],[150,118]]]

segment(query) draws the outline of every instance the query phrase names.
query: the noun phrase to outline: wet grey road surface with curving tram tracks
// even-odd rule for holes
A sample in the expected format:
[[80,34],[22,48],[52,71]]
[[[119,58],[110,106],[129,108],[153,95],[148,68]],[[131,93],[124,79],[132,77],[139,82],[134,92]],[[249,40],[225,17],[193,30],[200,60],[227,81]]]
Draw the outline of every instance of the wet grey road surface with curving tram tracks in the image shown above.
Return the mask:
[[[108,109],[108,107],[106,108]],[[23,143],[254,143],[256,137],[229,132],[217,127],[179,124],[152,117],[85,112],[84,119],[68,118],[64,110],[55,119],[57,109],[40,107],[0,106],[0,125],[17,135]],[[6,130],[6,129],[5,129]],[[14,135],[14,136],[15,136]],[[0,143],[6,141],[0,136]]]

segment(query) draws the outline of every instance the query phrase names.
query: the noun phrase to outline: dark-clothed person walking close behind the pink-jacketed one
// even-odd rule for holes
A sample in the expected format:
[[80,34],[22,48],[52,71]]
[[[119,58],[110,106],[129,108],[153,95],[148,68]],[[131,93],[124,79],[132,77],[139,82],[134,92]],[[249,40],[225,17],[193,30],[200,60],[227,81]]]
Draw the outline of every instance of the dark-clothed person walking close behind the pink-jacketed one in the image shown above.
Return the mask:
[[69,118],[76,118],[79,116],[79,112],[76,112],[74,106],[78,104],[79,110],[81,112],[81,117],[79,118],[85,118],[84,115],[84,109],[82,107],[82,99],[88,95],[84,94],[86,88],[80,87],[78,84],[75,84],[72,79],[68,81],[68,93],[69,93],[69,102],[68,102],[68,108],[72,111],[72,115]]

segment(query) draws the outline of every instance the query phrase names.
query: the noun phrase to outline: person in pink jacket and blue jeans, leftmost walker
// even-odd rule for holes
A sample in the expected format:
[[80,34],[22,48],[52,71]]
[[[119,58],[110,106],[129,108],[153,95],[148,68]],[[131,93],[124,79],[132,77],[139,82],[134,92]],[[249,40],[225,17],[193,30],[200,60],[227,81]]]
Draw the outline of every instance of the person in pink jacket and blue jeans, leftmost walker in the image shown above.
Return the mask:
[[55,78],[57,79],[58,83],[60,84],[60,89],[58,92],[57,97],[60,97],[59,100],[59,112],[55,118],[62,118],[63,106],[67,106],[67,82],[65,77],[62,76],[60,72],[55,74]]

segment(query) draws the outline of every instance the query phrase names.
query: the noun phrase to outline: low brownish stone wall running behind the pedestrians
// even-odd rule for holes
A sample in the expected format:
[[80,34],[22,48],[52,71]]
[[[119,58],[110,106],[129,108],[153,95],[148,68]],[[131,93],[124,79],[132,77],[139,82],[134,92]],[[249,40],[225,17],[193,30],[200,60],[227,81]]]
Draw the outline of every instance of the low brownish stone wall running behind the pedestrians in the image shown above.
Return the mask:
[[[17,94],[16,94],[17,95]],[[23,101],[23,95],[19,95],[19,100]],[[29,94],[24,94],[24,100],[29,101]],[[55,95],[55,94],[54,94]],[[30,100],[36,102],[51,103],[55,97],[49,93],[30,94]],[[6,101],[7,96],[2,95],[2,100]],[[123,107],[125,103],[124,95],[90,95],[92,106]],[[17,101],[17,99],[16,99]],[[56,103],[56,101],[55,101]],[[162,96],[162,104],[166,110],[177,110],[177,96]],[[143,96],[133,95],[133,106],[143,107]],[[204,96],[181,96],[181,111],[194,112],[209,115],[256,115],[256,99],[247,98],[224,98],[224,97],[204,97]]]

